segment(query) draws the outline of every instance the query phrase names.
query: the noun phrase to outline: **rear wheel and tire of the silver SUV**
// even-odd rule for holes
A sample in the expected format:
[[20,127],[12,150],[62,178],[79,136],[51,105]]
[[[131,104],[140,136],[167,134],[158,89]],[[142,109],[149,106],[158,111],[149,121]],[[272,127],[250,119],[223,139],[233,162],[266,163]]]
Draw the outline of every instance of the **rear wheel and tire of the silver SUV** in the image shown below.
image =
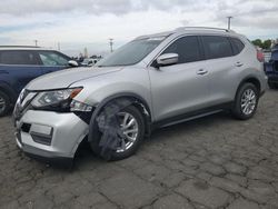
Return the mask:
[[231,112],[237,119],[250,119],[257,110],[259,92],[256,86],[249,82],[244,83],[238,89]]

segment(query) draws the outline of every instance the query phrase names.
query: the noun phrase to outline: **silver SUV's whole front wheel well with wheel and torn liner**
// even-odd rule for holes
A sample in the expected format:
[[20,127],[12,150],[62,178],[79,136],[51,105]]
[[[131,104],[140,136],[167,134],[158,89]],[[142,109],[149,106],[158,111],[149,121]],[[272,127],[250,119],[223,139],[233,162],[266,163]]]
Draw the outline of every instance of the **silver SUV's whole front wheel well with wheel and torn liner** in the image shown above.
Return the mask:
[[150,115],[142,102],[133,98],[113,99],[93,112],[88,141],[102,158],[122,159],[150,132],[149,125]]

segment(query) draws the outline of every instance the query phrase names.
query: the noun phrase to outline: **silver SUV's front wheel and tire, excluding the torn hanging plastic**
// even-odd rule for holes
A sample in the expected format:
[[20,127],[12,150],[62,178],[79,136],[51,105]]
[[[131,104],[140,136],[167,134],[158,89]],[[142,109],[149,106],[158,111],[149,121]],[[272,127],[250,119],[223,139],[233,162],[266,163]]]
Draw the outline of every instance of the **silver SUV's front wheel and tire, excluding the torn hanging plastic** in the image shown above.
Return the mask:
[[102,155],[100,140],[103,133],[99,130],[97,122],[93,127],[93,139],[91,140],[91,149],[98,156],[108,160],[121,160],[132,156],[139,148],[145,136],[145,122],[141,112],[133,106],[123,108],[117,113],[119,128],[121,131],[120,142],[116,149],[111,150],[109,158]]

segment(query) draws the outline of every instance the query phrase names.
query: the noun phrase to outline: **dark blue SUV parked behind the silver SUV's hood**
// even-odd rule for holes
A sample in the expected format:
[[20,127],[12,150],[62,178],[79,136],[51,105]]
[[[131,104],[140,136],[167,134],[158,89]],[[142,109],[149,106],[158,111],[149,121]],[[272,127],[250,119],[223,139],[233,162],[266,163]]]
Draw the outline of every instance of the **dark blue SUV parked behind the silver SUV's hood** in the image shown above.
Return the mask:
[[72,66],[78,63],[59,51],[38,47],[0,47],[0,116],[10,110],[29,81]]

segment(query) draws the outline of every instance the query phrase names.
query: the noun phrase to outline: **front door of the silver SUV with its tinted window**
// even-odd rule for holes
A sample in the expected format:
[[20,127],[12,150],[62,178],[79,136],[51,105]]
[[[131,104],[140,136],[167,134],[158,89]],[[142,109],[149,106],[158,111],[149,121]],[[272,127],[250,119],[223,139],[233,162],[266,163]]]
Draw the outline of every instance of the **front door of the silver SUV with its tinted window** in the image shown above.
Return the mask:
[[196,36],[179,38],[162,52],[178,53],[178,63],[159,69],[150,67],[156,121],[208,107],[209,71],[199,46]]

